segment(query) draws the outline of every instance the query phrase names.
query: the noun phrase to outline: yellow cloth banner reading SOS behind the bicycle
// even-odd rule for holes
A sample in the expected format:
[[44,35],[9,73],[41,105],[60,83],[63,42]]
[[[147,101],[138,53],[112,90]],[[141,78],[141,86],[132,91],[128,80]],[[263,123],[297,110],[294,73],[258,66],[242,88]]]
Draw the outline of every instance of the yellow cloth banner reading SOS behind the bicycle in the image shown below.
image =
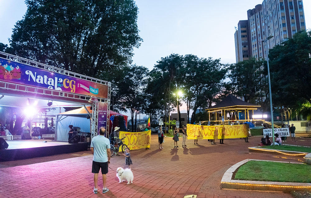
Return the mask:
[[[128,145],[130,150],[150,148],[151,130],[137,133],[120,131],[119,138],[122,139],[123,137],[125,137],[123,143]],[[121,147],[120,151],[122,151]]]

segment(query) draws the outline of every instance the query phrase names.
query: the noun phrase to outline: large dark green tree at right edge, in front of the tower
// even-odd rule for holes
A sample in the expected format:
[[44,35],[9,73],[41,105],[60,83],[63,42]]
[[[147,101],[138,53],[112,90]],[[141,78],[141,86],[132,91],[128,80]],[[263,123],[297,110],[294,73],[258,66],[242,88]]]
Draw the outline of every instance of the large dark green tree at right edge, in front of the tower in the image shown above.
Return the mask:
[[269,50],[272,101],[277,106],[297,107],[311,103],[311,31]]

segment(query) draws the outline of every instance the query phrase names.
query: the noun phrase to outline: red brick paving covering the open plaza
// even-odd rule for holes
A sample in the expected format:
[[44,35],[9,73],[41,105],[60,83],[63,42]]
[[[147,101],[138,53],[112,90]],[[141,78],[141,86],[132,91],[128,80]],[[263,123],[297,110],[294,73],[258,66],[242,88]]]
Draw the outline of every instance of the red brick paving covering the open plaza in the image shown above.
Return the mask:
[[[187,148],[173,149],[171,138],[166,138],[163,150],[157,149],[157,135],[152,135],[151,150],[133,150],[133,184],[119,184],[115,172],[109,169],[107,186],[110,191],[102,194],[99,178],[99,193],[93,194],[92,155],[80,152],[0,163],[0,197],[58,198],[58,197],[292,197],[282,192],[243,191],[220,189],[225,171],[244,159],[264,159],[297,162],[300,157],[249,152],[260,137],[251,137],[250,143],[243,139],[225,139],[225,144],[211,145],[199,140],[199,146],[187,140]],[[310,145],[309,139],[297,139],[290,144]],[[181,141],[179,141],[181,146]],[[84,154],[83,154],[84,153]],[[80,154],[80,155],[79,155]],[[83,154],[83,155],[82,155]],[[81,157],[77,157],[81,156]],[[283,157],[283,158],[280,158]],[[60,159],[60,160],[54,160]],[[110,167],[116,170],[125,166],[124,157],[113,157]]]

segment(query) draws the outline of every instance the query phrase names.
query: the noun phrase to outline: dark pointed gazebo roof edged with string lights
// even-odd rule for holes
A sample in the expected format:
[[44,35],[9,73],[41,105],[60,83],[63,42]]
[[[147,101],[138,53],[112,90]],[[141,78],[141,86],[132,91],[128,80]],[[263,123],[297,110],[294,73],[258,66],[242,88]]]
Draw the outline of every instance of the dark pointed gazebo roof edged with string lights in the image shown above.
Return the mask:
[[243,108],[243,109],[257,109],[260,105],[254,105],[249,102],[245,102],[243,100],[238,99],[237,97],[234,97],[232,94],[229,94],[225,99],[218,102],[216,105],[209,107],[208,111],[215,111],[215,110],[221,110],[221,109],[233,109],[233,108]]

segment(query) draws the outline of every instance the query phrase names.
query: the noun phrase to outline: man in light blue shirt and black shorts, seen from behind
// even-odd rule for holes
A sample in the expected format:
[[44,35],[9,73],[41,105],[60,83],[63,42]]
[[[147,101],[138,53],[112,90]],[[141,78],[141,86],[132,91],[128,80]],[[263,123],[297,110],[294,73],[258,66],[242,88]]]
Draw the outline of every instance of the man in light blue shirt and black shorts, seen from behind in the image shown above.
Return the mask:
[[110,141],[104,135],[106,129],[101,127],[99,135],[95,136],[91,141],[91,152],[93,154],[92,173],[94,173],[94,194],[97,194],[97,179],[101,169],[103,175],[103,193],[108,192],[106,186],[106,174],[108,173],[108,165],[110,164]]

